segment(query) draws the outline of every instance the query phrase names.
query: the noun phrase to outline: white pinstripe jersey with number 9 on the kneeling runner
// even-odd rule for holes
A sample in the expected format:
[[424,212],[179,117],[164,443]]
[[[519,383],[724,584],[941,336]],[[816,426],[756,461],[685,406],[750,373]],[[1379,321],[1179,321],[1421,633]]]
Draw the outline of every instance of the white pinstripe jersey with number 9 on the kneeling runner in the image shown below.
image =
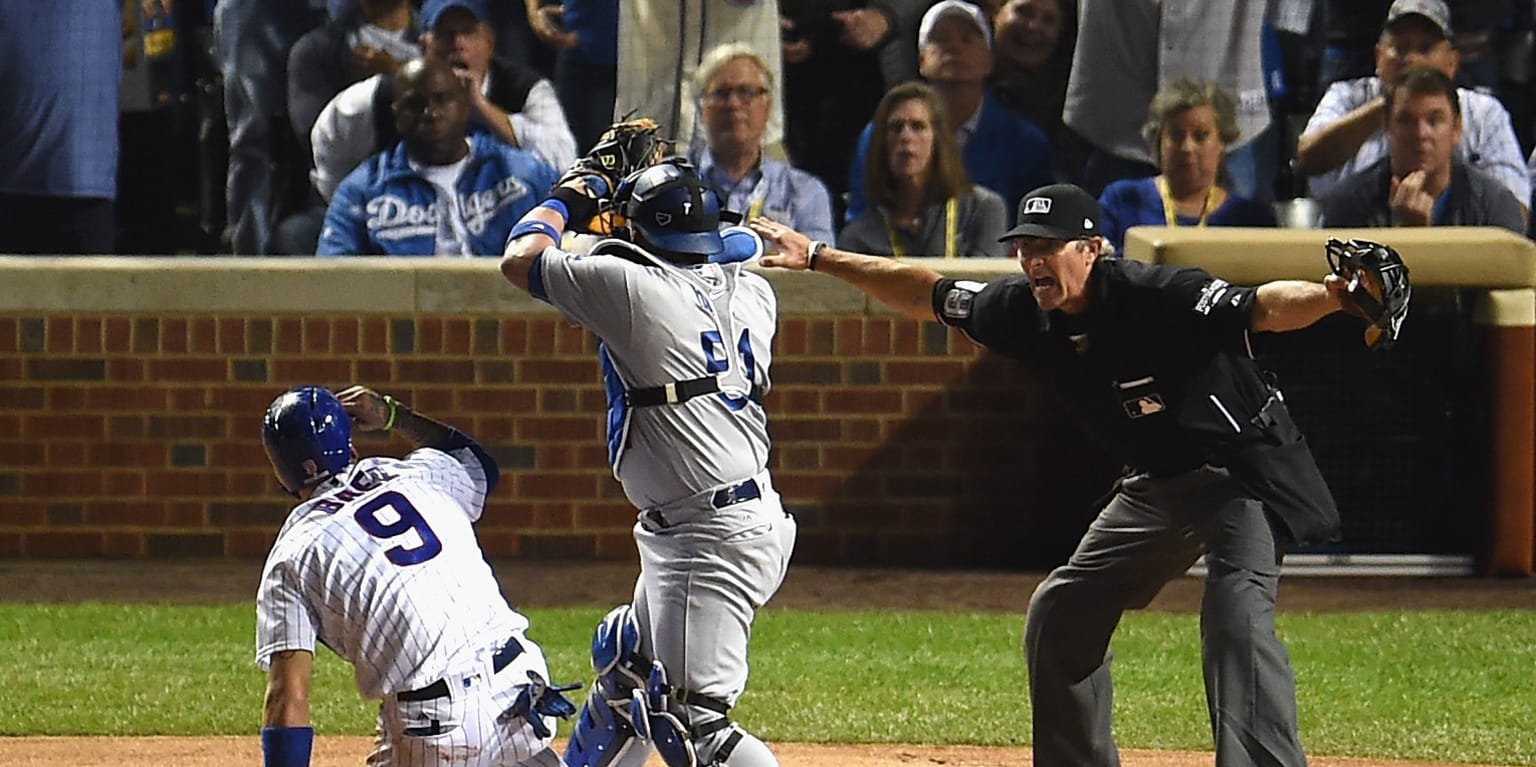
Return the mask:
[[257,666],[316,639],[364,698],[475,669],[528,621],[501,595],[472,523],[485,470],[468,449],[362,458],[289,515],[257,592]]

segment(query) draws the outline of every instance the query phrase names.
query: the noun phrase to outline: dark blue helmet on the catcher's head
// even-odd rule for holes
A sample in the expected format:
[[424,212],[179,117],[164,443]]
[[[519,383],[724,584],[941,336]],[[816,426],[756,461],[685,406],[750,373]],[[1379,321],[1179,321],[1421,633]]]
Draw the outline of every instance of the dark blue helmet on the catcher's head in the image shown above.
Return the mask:
[[680,157],[634,172],[619,183],[614,197],[628,226],[647,244],[690,255],[714,255],[725,249],[720,200]]

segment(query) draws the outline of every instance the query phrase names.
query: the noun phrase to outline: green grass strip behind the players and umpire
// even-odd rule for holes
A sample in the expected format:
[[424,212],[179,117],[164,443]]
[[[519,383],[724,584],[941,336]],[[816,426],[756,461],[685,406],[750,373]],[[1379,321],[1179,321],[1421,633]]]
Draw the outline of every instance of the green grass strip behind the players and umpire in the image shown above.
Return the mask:
[[[531,610],[556,679],[590,681],[601,609]],[[264,676],[252,606],[0,604],[0,735],[249,735]],[[770,741],[1023,745],[1020,615],[766,610],[737,718]],[[1281,616],[1309,752],[1536,765],[1536,613]],[[1127,749],[1209,749],[1192,615],[1115,638]],[[316,662],[323,735],[366,735],[350,669]]]

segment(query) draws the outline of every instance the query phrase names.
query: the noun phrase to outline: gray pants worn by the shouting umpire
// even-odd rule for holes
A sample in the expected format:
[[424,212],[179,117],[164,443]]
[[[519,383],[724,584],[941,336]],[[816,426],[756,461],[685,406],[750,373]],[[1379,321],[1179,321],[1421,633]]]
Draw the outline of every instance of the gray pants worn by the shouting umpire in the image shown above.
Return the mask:
[[1263,506],[1204,467],[1138,475],[1089,526],[1068,564],[1029,599],[1025,656],[1035,767],[1114,767],[1109,638],[1204,552],[1200,606],[1206,706],[1217,767],[1301,767],[1296,682],[1275,636],[1283,544]]

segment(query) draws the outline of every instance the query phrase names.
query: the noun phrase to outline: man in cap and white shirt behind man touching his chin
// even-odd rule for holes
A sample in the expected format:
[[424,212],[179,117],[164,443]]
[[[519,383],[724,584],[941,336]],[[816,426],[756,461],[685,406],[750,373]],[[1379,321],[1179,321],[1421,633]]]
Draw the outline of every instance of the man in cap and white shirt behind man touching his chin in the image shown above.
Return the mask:
[[[1456,78],[1461,57],[1452,45],[1450,11],[1442,0],[1396,0],[1376,42],[1376,75],[1329,86],[1296,141],[1296,160],[1310,177],[1312,197],[1326,197],[1344,180],[1387,157],[1384,85],[1410,65],[1424,65]],[[1456,157],[1504,184],[1521,209],[1530,203],[1510,112],[1498,98],[1458,89],[1462,134]]]

